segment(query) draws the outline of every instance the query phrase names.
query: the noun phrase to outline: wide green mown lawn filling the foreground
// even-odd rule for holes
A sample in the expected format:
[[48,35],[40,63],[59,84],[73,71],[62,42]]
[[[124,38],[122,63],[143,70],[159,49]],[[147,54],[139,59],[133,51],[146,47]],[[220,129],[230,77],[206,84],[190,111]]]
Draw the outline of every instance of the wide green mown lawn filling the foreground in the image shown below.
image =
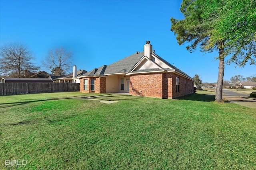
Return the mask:
[[0,169],[256,169],[256,109],[207,94],[90,95],[0,96]]

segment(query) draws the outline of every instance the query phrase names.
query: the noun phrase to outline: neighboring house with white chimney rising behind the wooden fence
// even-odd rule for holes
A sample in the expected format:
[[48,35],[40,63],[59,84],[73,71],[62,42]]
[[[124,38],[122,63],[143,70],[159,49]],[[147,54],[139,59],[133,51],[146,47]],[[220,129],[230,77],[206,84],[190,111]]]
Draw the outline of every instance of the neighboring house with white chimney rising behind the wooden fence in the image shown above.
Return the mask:
[[85,74],[87,71],[86,70],[77,70],[77,66],[73,67],[73,72],[63,76],[63,77],[58,77],[58,78],[53,78],[54,82],[69,82],[69,83],[80,83],[79,77],[82,74]]

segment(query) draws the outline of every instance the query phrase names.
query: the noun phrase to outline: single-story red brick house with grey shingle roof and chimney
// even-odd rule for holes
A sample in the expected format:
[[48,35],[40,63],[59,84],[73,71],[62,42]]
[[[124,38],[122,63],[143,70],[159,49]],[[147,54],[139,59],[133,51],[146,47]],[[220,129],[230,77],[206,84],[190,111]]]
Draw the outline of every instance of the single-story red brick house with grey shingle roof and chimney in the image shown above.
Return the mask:
[[103,65],[80,75],[80,92],[130,93],[133,96],[177,98],[193,93],[194,80],[152,51],[144,51],[116,63]]

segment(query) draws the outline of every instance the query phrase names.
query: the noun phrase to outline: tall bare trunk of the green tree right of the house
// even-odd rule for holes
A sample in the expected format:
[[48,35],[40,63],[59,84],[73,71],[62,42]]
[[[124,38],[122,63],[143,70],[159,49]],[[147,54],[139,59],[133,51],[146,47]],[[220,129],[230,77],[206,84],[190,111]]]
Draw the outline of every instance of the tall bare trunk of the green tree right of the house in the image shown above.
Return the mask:
[[218,73],[217,88],[216,88],[216,95],[215,95],[216,102],[222,102],[222,87],[223,87],[223,78],[224,78],[224,57],[223,57],[224,48],[222,47],[222,45],[224,45],[223,41],[220,43],[221,48],[219,49],[219,73]]

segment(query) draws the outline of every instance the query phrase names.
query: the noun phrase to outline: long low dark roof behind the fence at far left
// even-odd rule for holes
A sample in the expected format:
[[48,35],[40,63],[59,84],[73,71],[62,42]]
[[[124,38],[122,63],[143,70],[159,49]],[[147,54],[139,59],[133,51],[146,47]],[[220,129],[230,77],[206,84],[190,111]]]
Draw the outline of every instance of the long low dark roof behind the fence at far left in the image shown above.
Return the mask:
[[17,83],[31,83],[31,82],[52,82],[51,79],[49,78],[2,78],[1,80],[2,83],[12,83],[12,82],[17,82]]

